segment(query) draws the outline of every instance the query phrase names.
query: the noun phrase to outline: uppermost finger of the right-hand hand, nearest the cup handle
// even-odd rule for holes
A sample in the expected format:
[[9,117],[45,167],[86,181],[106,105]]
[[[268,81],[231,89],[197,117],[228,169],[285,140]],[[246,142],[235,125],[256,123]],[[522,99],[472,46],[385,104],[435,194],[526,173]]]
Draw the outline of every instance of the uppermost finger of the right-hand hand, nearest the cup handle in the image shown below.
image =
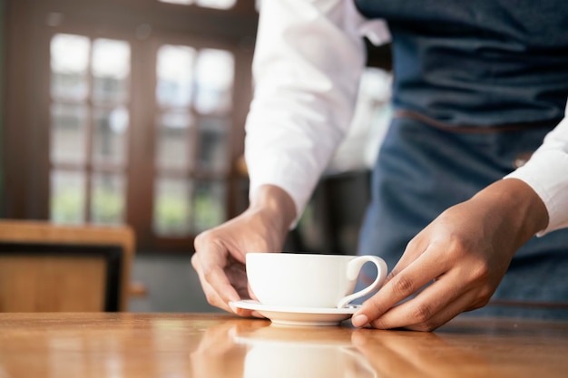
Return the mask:
[[385,314],[394,305],[416,293],[420,288],[444,273],[436,253],[426,250],[408,267],[383,286],[375,296],[367,299],[353,315],[354,326],[366,325]]

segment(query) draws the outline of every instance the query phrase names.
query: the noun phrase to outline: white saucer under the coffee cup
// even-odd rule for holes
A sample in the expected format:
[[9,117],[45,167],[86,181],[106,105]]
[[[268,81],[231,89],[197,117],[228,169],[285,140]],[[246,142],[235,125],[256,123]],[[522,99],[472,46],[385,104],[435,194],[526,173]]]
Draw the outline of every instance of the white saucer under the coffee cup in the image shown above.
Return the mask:
[[233,302],[238,308],[258,311],[278,325],[338,325],[353,315],[358,306],[346,308],[285,307],[262,305],[258,301],[243,300]]

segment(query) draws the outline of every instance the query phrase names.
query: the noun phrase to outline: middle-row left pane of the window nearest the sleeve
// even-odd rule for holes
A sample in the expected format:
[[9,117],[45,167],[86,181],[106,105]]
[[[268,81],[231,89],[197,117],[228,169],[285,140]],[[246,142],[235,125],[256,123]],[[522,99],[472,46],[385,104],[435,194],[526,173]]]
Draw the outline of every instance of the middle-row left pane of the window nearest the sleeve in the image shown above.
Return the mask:
[[191,165],[191,114],[166,112],[158,120],[156,165],[161,169],[187,170]]

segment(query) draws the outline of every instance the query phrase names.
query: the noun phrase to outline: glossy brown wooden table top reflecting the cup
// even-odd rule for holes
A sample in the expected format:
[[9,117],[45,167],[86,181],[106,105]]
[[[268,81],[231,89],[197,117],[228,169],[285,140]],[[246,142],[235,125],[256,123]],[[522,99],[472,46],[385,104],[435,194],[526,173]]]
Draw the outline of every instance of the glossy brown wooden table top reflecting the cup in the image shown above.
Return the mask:
[[567,377],[568,323],[435,333],[207,314],[0,314],[0,377]]

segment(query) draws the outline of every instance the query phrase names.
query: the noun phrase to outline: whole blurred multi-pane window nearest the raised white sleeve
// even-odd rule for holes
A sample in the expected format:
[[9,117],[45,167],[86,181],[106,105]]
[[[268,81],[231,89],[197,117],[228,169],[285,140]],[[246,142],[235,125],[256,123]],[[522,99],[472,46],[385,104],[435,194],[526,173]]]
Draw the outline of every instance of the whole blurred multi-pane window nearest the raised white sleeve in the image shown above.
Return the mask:
[[156,62],[153,229],[195,235],[227,218],[234,58],[220,49],[163,44]]

